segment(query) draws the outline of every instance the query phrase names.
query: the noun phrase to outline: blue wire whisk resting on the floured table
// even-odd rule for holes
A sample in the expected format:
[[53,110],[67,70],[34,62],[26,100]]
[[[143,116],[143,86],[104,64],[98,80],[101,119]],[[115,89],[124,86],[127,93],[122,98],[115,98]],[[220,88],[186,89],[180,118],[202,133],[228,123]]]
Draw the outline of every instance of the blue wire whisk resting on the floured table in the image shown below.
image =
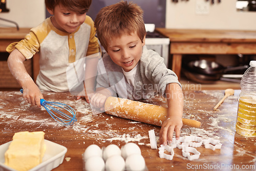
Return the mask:
[[[23,89],[20,89],[20,92],[23,93]],[[45,99],[40,99],[40,104],[44,106],[44,108],[51,115],[51,117],[60,124],[72,125],[74,122],[77,121],[76,111],[67,104],[60,103],[60,102],[46,101]],[[56,106],[60,109],[68,111],[68,113],[71,114],[72,116],[55,109],[53,106]],[[56,112],[56,114],[58,114],[59,116],[56,116],[53,113],[53,111]]]

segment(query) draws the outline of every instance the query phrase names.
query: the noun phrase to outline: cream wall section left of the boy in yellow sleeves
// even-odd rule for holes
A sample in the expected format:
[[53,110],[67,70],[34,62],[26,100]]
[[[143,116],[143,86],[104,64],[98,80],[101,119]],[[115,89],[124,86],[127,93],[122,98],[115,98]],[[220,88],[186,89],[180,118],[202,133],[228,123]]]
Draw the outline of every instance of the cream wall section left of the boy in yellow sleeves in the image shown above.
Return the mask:
[[[0,13],[1,18],[16,22],[20,28],[32,28],[45,20],[44,0],[7,0],[9,12]],[[14,26],[0,20],[3,25]]]

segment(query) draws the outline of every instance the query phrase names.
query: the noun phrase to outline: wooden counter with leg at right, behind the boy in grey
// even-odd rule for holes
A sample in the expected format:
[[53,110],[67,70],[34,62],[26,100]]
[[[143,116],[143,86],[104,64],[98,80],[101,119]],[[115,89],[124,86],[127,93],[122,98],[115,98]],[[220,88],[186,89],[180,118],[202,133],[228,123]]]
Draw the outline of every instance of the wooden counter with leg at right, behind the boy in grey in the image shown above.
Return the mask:
[[256,31],[156,28],[170,39],[172,70],[180,78],[184,54],[256,54]]

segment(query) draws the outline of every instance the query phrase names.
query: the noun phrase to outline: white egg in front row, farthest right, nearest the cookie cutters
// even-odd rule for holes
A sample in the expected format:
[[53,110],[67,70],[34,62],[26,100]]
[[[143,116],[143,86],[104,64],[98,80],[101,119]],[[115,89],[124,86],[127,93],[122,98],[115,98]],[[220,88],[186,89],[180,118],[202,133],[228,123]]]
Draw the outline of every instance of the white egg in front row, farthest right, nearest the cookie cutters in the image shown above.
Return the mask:
[[125,168],[129,171],[142,171],[145,170],[146,163],[140,154],[132,154],[125,160]]

